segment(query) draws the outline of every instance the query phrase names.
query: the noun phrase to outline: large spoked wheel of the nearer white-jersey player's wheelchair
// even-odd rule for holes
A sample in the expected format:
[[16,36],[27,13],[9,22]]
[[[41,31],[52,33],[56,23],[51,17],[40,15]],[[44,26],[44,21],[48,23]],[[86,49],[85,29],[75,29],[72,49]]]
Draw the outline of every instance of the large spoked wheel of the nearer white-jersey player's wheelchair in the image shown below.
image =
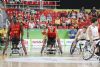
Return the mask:
[[87,46],[85,46],[83,48],[83,59],[84,60],[89,60],[94,56],[94,52],[95,52],[95,48],[90,46],[90,44],[88,44]]

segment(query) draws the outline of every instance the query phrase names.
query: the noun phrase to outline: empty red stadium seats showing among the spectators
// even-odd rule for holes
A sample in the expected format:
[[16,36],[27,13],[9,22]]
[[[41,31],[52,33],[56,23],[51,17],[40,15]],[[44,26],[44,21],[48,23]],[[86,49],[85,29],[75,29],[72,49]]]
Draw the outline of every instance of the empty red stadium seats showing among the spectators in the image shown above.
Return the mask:
[[[47,12],[46,11],[47,10],[44,10],[44,11],[36,11],[36,14],[34,16],[34,19],[40,19],[40,15],[42,15],[42,14],[44,14],[46,17],[47,17],[47,14],[51,14],[51,16],[52,16],[52,24],[55,24],[56,17],[63,17],[63,16],[66,16],[67,15],[67,11],[53,11],[52,13],[49,13],[49,11],[47,11]],[[21,16],[24,18],[24,15],[25,15],[24,11],[19,11],[17,9],[7,9],[6,12],[7,12],[7,14],[8,14],[9,17],[13,16],[14,13],[16,14],[16,17],[18,16],[18,14],[21,14]],[[76,12],[76,13],[78,13],[78,12]],[[27,17],[28,17],[28,19],[30,19],[31,14],[28,13],[27,14]],[[63,21],[62,18],[60,18],[60,20],[61,20],[61,23],[62,23],[62,21]],[[90,25],[89,21],[86,21],[85,24],[86,25]],[[82,28],[85,24],[84,23],[79,24],[79,28]],[[27,28],[27,27],[25,27],[25,28]],[[62,29],[62,28],[63,29],[67,29],[68,27],[67,26],[59,26],[58,28],[59,29]]]

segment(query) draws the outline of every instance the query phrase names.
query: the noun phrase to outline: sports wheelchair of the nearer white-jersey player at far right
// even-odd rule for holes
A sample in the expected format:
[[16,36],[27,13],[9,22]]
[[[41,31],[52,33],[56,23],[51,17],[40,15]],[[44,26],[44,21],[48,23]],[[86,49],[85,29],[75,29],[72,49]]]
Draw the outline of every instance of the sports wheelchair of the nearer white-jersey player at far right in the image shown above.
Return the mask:
[[[94,47],[93,42],[96,41],[96,47]],[[87,46],[83,51],[83,59],[89,60],[92,57],[96,57],[100,62],[100,39],[95,39],[93,42],[87,41]],[[87,49],[86,49],[87,48]],[[95,53],[96,48],[98,48],[98,53]]]

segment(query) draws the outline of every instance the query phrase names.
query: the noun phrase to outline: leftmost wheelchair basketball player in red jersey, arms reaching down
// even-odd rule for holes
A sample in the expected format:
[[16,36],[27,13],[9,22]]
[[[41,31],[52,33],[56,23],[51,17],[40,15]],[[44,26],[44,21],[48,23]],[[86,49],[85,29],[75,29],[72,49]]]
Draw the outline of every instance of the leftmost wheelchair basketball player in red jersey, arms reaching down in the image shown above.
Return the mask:
[[[9,28],[8,28],[8,32],[7,32],[7,42],[5,45],[5,48],[3,50],[3,55],[5,54],[5,51],[9,45],[9,42],[11,42],[12,44],[12,54],[13,54],[13,50],[19,50],[18,44],[21,41],[23,50],[25,55],[27,55],[27,51],[25,46],[23,45],[23,26],[20,22],[17,21],[17,18],[13,20],[13,22],[11,22]],[[17,51],[17,53],[19,54],[19,52]]]

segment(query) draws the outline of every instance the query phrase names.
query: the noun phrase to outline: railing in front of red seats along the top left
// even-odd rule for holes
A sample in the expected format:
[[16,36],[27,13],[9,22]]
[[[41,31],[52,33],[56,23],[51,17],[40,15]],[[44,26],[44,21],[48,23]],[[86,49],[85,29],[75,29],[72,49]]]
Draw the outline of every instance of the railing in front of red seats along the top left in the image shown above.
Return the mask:
[[39,7],[44,8],[44,7],[56,7],[60,6],[59,4],[60,1],[21,1],[21,2],[9,2],[7,0],[4,0],[3,3],[5,7],[7,6],[20,6],[25,8],[25,6],[30,6],[30,7]]

